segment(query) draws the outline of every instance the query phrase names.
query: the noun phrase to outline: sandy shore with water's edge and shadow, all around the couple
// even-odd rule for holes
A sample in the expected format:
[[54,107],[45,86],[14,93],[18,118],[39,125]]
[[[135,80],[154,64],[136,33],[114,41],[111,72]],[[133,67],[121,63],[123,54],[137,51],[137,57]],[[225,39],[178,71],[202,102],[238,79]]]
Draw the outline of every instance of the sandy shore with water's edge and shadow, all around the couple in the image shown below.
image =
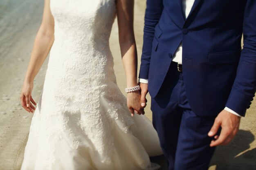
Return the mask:
[[[0,170],[19,170],[29,134],[32,114],[20,106],[20,90],[29,62],[34,38],[40,26],[43,0],[0,1]],[[146,0],[135,0],[135,36],[140,59]],[[118,43],[115,21],[110,37],[115,74],[125,94],[126,79]],[[34,81],[32,96],[36,100],[43,88],[47,61]],[[151,119],[150,97],[146,115]],[[220,146],[209,170],[256,170],[256,102],[242,118],[240,131],[227,146]],[[153,158],[166,170],[163,157]]]

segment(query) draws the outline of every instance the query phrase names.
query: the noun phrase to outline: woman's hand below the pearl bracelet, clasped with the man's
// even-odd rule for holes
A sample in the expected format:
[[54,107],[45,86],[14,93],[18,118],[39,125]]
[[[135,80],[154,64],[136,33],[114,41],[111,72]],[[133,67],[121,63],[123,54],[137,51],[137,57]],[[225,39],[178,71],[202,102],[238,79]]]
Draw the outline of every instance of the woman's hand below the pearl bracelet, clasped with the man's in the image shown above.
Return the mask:
[[140,91],[134,91],[127,94],[127,106],[132,116],[134,116],[135,113],[138,115],[145,114],[144,108],[142,108],[140,104],[140,98]]

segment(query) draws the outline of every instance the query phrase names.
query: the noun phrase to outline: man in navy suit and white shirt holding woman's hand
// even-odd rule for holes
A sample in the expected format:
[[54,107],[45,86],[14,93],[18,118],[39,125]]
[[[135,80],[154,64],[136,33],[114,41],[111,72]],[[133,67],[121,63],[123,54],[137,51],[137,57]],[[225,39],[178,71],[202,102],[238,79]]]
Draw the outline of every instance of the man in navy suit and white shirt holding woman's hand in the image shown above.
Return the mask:
[[168,170],[207,170],[256,91],[256,0],[147,0],[139,82]]

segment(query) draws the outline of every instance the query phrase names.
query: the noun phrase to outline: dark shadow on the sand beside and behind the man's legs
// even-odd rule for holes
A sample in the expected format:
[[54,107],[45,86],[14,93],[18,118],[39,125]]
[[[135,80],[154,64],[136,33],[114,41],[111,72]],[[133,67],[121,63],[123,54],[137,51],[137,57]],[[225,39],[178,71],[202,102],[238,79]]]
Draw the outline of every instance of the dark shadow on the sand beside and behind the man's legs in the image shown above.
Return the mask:
[[[211,160],[211,170],[256,170],[256,148],[248,150],[255,140],[250,131],[239,130],[236,137],[227,146],[219,146]],[[164,156],[151,157],[150,160],[167,170]]]

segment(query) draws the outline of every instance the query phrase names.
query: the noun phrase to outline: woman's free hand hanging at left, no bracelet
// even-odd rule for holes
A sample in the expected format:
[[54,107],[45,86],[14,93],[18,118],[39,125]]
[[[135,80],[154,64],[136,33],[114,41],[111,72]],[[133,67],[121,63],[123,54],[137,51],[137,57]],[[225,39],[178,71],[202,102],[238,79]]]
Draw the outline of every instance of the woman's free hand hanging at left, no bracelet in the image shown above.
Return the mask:
[[27,110],[29,113],[33,113],[36,108],[33,106],[33,104],[36,106],[36,102],[31,96],[32,89],[33,89],[34,83],[27,83],[24,82],[20,94],[20,102],[22,107]]

